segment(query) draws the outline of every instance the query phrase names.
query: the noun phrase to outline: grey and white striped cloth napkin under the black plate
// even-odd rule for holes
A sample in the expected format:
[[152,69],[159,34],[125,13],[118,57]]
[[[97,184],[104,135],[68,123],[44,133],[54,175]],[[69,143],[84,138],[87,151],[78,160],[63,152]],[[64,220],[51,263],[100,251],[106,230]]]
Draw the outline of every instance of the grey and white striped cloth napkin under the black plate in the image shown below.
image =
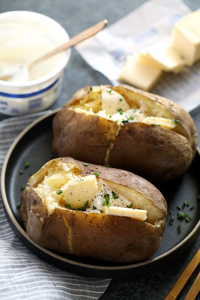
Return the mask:
[[[18,134],[46,112],[0,122],[0,172]],[[0,193],[0,299],[98,299],[110,279],[85,278],[40,260],[16,237],[7,222]]]

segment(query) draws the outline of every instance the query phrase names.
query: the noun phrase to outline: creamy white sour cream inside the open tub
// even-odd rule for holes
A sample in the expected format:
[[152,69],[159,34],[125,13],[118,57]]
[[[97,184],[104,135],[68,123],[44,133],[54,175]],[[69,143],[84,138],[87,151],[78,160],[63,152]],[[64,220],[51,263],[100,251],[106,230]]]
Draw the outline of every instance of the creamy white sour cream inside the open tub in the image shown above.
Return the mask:
[[55,33],[37,20],[13,16],[0,20],[0,77],[12,75],[8,81],[26,82],[40,78],[53,70],[63,53],[33,67],[29,64],[62,44]]

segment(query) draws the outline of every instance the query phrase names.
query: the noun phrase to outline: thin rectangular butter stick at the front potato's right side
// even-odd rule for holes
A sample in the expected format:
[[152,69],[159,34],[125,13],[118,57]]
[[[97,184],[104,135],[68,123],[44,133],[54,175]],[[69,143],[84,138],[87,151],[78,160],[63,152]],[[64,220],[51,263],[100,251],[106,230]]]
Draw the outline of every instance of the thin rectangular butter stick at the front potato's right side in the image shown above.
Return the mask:
[[136,220],[144,221],[147,218],[147,211],[144,209],[133,209],[118,206],[109,206],[104,209],[104,214],[113,214],[115,216],[131,217]]

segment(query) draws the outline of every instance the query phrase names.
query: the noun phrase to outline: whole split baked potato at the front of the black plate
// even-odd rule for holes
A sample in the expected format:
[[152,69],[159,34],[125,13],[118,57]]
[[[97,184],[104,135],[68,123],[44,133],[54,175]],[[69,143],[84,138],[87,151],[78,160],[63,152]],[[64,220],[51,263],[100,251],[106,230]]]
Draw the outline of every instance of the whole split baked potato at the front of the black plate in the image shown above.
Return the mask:
[[28,235],[43,247],[134,262],[158,249],[167,204],[153,184],[133,173],[55,158],[28,180],[20,211]]

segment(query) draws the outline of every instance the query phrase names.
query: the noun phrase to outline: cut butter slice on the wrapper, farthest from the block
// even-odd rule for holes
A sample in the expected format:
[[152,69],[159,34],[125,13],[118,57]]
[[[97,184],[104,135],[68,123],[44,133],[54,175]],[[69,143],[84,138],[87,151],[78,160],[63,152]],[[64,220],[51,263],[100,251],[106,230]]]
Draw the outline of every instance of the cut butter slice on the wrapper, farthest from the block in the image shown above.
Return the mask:
[[149,91],[158,81],[162,74],[162,70],[145,64],[141,54],[128,56],[124,67],[121,70],[119,79]]

